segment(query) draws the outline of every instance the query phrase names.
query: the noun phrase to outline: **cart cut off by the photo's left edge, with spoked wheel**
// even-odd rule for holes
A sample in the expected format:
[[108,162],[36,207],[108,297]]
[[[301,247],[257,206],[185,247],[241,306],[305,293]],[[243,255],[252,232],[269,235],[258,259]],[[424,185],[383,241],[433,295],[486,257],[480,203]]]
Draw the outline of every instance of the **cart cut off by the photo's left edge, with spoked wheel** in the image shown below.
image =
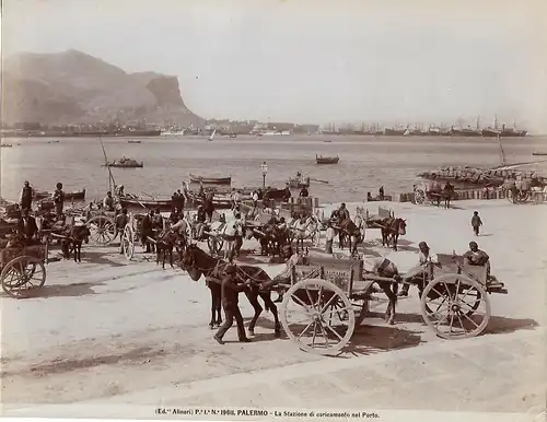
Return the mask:
[[46,282],[47,245],[0,249],[2,290],[11,297],[26,297]]

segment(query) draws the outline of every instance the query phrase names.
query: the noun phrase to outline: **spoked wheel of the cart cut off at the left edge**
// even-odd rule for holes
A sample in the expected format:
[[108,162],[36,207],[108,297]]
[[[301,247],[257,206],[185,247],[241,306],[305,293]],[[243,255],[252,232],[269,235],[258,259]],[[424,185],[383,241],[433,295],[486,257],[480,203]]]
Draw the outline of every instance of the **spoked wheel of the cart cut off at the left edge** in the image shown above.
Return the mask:
[[20,256],[9,261],[0,274],[2,290],[14,298],[25,297],[31,290],[39,289],[46,282],[46,267],[43,259]]

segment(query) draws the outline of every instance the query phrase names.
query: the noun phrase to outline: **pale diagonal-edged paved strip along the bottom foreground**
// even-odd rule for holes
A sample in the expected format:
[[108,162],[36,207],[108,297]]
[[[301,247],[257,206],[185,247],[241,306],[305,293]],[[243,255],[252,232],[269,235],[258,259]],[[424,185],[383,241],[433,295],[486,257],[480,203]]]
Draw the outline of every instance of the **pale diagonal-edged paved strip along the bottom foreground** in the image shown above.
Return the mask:
[[[505,417],[532,412],[537,415],[545,409],[545,329],[537,328],[358,357],[326,357],[73,406],[88,409],[96,406],[96,411],[102,408],[103,418],[113,409],[126,408],[124,405],[270,411],[274,408],[354,409],[379,413],[407,409],[503,412]],[[69,409],[73,406],[66,405],[63,413],[71,413]],[[110,412],[105,406],[110,407]],[[54,412],[51,408],[57,415],[59,410]],[[28,411],[35,413],[38,409]],[[39,413],[45,415],[43,411]],[[30,415],[27,412],[23,413]],[[81,409],[79,414],[83,415]],[[116,414],[119,413],[116,411]],[[130,418],[127,411],[121,414]]]

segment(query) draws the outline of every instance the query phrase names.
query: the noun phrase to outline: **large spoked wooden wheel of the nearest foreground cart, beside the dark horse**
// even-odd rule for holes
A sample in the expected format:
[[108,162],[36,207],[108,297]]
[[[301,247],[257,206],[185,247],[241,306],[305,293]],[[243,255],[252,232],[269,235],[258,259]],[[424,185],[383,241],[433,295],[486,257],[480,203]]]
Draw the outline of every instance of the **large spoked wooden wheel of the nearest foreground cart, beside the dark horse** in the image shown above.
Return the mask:
[[305,279],[292,285],[281,304],[281,325],[300,349],[331,354],[348,344],[356,315],[348,296],[323,279]]

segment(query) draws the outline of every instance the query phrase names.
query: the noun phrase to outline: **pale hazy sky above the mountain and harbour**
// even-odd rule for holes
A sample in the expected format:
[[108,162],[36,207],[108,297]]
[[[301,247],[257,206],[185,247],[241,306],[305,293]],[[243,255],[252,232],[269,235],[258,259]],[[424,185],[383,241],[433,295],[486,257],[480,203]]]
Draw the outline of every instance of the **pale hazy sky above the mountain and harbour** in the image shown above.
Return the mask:
[[[4,0],[3,54],[177,75],[206,118],[547,129],[547,0]],[[198,77],[196,79],[196,77]]]

